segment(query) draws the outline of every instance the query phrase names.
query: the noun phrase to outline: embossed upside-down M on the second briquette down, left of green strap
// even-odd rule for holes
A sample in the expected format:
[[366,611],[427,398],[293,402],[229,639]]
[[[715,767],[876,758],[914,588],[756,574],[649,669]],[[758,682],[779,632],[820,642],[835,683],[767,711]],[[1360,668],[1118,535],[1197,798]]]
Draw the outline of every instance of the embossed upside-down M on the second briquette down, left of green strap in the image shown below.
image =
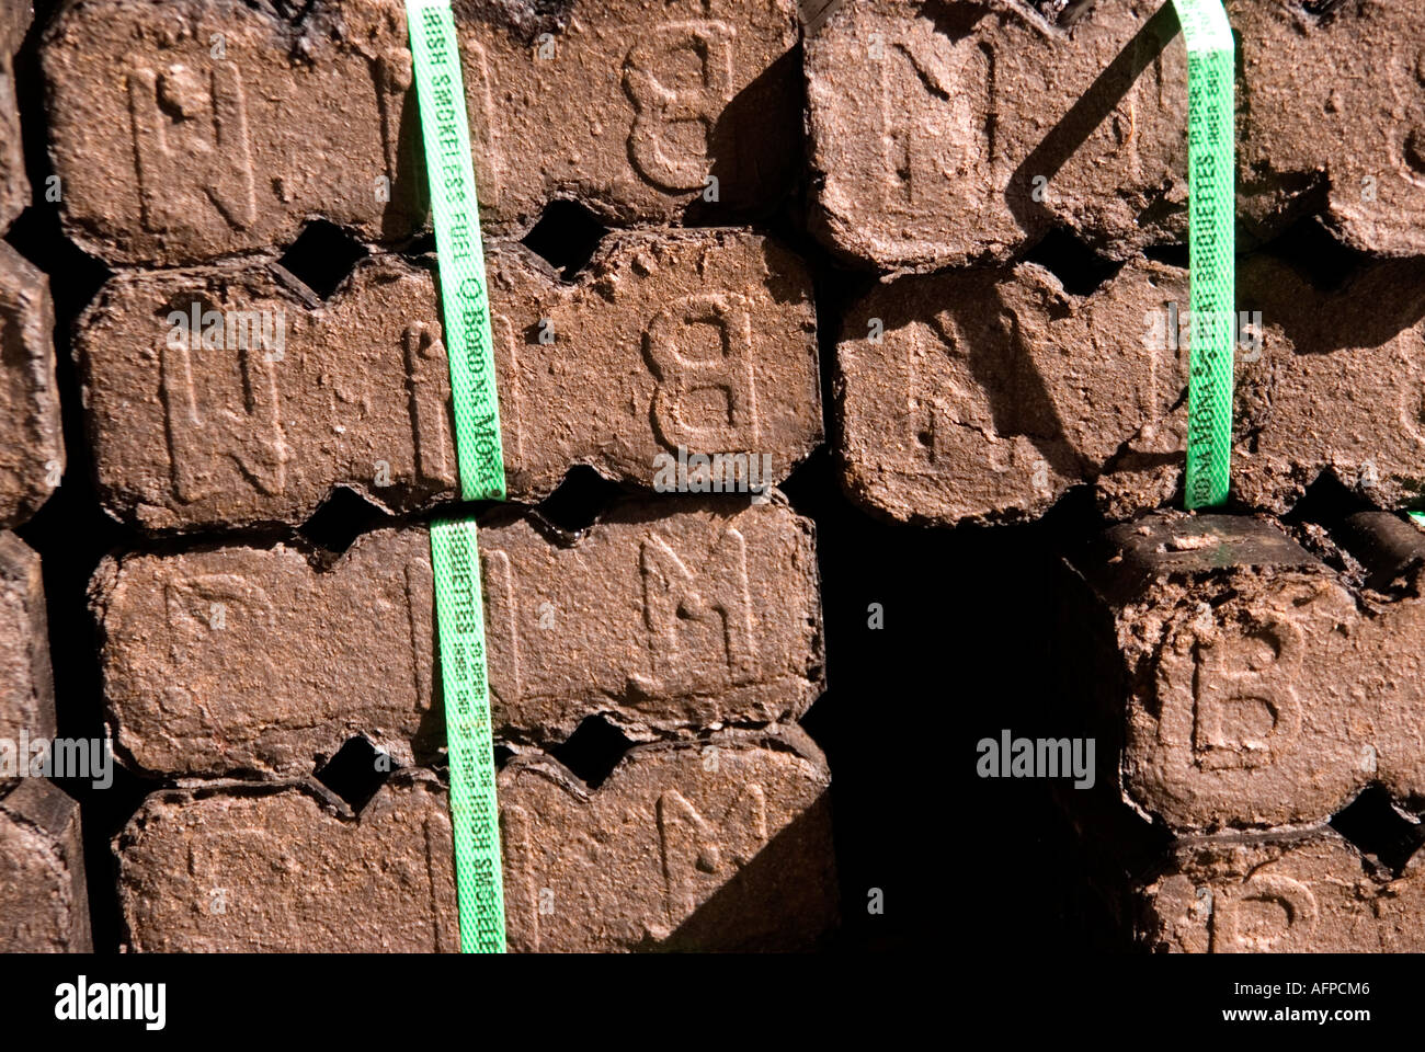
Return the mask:
[[[208,362],[195,371],[192,359],[200,349],[201,339],[190,332],[165,341],[158,352],[174,496],[191,503],[221,489],[215,476],[224,459],[231,459],[262,493],[281,493],[291,452],[278,415],[276,363],[261,348],[205,349],[238,358],[242,408],[234,411],[225,408],[228,392],[212,389],[228,369],[221,368],[222,362]],[[195,372],[207,381],[202,398]]]

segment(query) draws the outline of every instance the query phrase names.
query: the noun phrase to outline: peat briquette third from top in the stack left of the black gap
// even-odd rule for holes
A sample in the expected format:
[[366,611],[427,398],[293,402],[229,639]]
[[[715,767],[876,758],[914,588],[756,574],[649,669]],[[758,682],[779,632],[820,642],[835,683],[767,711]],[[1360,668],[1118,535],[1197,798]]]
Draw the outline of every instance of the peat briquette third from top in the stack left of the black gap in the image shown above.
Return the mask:
[[[779,497],[624,502],[574,543],[497,510],[479,543],[500,741],[557,744],[590,716],[644,741],[791,721],[825,686],[812,525]],[[291,778],[361,734],[435,761],[429,549],[408,529],[323,570],[285,546],[105,560],[91,594],[120,751]]]

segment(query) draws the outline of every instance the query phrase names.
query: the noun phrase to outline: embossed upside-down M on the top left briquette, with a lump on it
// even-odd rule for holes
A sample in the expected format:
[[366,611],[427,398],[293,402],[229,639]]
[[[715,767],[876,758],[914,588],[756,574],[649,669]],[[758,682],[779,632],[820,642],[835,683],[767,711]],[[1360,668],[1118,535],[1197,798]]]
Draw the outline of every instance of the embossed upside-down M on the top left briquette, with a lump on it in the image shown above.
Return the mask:
[[138,195],[145,230],[194,228],[197,187],[234,230],[256,221],[247,97],[232,63],[211,73],[170,66],[128,76]]

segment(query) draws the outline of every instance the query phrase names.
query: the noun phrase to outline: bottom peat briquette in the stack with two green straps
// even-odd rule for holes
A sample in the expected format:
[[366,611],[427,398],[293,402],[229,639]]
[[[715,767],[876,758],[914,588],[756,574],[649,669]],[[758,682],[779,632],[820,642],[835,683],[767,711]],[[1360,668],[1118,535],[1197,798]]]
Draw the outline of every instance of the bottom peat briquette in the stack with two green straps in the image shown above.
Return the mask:
[[[510,949],[812,948],[838,917],[828,785],[794,728],[640,746],[596,790],[516,757],[499,775]],[[425,773],[359,815],[311,785],[158,793],[115,851],[133,949],[459,945],[449,804]]]

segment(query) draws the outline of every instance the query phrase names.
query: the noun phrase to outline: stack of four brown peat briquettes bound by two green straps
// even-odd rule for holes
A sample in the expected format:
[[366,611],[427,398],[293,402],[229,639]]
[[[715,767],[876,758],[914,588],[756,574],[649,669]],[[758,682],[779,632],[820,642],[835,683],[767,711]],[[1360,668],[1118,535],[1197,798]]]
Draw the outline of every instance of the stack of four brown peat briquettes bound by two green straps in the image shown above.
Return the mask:
[[[456,4],[517,502],[480,519],[513,949],[836,924],[812,525],[647,492],[680,446],[775,483],[822,438],[808,274],[727,225],[795,175],[797,11],[687,9]],[[403,4],[86,0],[41,63],[66,232],[114,267],[74,336],[100,499],[162,539],[91,584],[117,753],[164,783],[114,841],[127,945],[455,949]],[[530,505],[580,465],[644,492],[563,530]]]

